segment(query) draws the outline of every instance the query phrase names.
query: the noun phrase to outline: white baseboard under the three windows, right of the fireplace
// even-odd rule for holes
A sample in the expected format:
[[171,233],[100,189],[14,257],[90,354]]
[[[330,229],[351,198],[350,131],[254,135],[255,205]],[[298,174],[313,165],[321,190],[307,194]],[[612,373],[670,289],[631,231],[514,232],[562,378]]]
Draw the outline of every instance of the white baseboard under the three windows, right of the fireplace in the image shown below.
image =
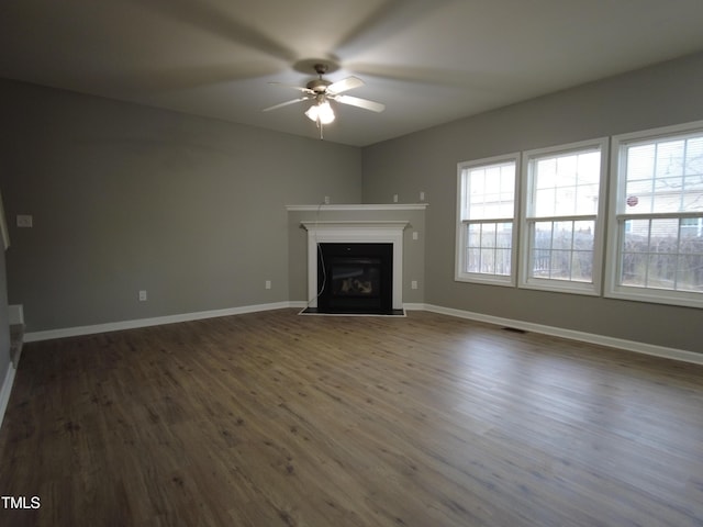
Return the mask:
[[562,327],[545,326],[543,324],[533,324],[529,322],[513,321],[511,318],[502,318],[500,316],[484,315],[481,313],[472,313],[470,311],[455,310],[451,307],[443,307],[433,304],[423,304],[424,311],[440,313],[444,315],[468,318],[487,324],[495,324],[499,326],[514,327],[526,332],[539,333],[543,335],[551,335],[554,337],[569,338],[582,343],[595,344],[600,346],[609,346],[611,348],[635,351],[666,359],[680,360],[683,362],[692,362],[703,365],[703,354],[687,351],[684,349],[667,348],[665,346],[655,346],[651,344],[638,343],[635,340],[625,340],[623,338],[607,337],[605,335],[595,335],[592,333],[576,332],[573,329],[565,329]]

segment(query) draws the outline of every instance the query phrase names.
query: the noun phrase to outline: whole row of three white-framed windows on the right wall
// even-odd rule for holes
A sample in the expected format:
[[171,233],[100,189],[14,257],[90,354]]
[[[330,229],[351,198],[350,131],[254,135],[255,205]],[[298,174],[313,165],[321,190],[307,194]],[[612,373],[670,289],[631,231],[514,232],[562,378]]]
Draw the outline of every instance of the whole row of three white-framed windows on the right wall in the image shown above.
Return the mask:
[[703,307],[703,121],[612,141],[460,162],[456,280]]

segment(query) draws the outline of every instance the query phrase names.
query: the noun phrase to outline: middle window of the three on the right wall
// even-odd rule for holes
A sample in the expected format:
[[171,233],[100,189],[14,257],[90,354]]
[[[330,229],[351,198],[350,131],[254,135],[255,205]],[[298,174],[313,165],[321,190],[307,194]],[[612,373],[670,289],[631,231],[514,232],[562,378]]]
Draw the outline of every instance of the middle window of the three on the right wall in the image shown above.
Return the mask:
[[521,287],[600,294],[607,139],[523,154]]

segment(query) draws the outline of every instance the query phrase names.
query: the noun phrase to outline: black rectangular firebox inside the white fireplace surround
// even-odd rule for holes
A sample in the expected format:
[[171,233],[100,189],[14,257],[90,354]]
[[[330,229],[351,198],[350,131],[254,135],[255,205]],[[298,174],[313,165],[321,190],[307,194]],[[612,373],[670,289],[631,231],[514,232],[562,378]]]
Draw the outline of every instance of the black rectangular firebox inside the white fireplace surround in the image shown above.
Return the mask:
[[393,314],[393,244],[320,244],[317,312]]

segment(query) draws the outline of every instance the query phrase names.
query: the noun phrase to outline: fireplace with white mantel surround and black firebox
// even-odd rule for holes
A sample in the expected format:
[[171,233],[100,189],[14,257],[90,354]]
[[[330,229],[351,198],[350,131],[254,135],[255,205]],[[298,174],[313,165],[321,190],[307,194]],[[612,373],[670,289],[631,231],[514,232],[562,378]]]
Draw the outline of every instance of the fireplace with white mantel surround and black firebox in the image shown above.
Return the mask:
[[402,315],[404,221],[302,222],[304,313]]

